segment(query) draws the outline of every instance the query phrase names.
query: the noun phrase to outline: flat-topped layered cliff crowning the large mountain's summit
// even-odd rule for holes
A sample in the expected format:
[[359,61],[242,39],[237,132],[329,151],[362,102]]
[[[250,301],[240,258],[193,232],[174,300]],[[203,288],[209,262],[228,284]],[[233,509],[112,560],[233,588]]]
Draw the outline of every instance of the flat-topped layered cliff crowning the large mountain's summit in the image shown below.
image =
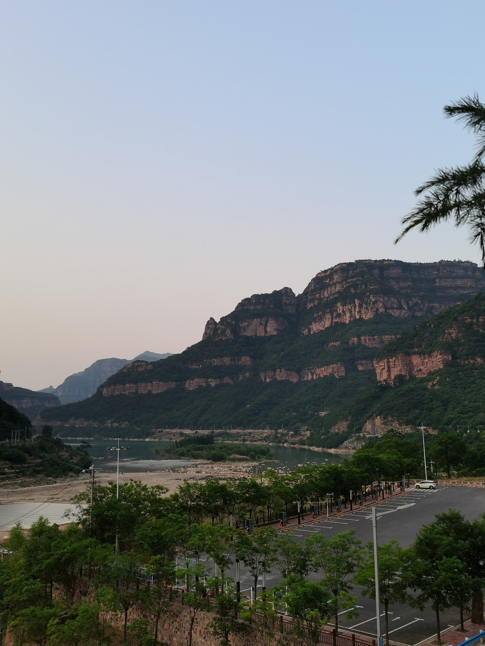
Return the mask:
[[335,323],[383,313],[429,317],[484,288],[484,273],[473,262],[343,263],[318,273],[299,297],[299,308],[310,316],[301,331],[314,334]]

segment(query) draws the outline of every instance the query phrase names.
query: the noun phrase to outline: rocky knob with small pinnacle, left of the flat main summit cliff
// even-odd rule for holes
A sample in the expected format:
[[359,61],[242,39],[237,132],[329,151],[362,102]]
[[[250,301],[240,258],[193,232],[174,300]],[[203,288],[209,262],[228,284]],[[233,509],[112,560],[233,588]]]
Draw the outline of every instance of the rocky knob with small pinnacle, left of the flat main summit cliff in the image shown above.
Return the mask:
[[296,320],[297,300],[292,289],[283,287],[271,294],[244,298],[235,310],[219,323],[210,318],[202,340],[228,340],[242,337],[272,337]]

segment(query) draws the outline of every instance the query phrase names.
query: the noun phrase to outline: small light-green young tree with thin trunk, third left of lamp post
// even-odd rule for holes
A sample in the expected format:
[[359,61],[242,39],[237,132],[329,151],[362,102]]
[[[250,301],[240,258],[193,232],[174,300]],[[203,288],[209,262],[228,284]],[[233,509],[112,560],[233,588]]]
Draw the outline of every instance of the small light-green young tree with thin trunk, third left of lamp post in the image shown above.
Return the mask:
[[272,527],[257,529],[251,536],[239,530],[235,555],[251,572],[254,583],[254,596],[257,596],[257,579],[271,571],[275,559],[277,534]]

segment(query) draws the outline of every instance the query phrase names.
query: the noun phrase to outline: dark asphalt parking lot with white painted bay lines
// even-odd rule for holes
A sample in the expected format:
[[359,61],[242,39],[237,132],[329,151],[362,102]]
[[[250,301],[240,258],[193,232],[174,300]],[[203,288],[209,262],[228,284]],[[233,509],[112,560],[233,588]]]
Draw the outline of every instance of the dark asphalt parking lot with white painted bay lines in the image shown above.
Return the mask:
[[[435,518],[435,514],[448,508],[460,510],[469,520],[480,517],[480,514],[485,513],[485,489],[465,487],[438,487],[435,490],[413,489],[406,494],[398,495],[379,503],[378,510],[379,512],[391,511],[398,506],[409,503],[414,503],[414,506],[399,510],[393,514],[386,514],[378,519],[378,543],[382,545],[382,543],[387,543],[391,539],[397,539],[402,547],[409,547],[413,543],[416,532],[420,527],[431,523]],[[353,529],[363,545],[365,545],[368,541],[372,541],[372,521],[366,519],[366,516],[370,515],[370,509],[371,506],[366,506],[353,512],[348,510],[348,513],[338,518],[330,517],[328,520],[324,514],[318,524],[303,524],[290,530],[290,533],[297,541],[304,541],[305,537],[317,532],[331,537],[338,532]],[[234,574],[234,572],[231,572],[230,576],[234,576]],[[313,576],[317,578],[316,575]],[[277,572],[266,576],[266,588],[269,589],[276,583],[279,583],[279,574]],[[251,585],[251,578],[244,571],[241,563],[242,594],[249,596],[250,592],[248,590],[250,590]],[[341,613],[339,628],[375,638],[375,602],[362,597],[359,592],[360,590],[356,587],[353,594],[357,597],[356,609],[360,616],[354,620],[347,621],[345,612]],[[468,618],[469,613],[465,614],[465,620]],[[442,630],[456,626],[459,622],[460,612],[458,609],[446,610],[441,614]],[[329,625],[331,626],[332,624]],[[383,616],[381,625],[383,630]],[[433,610],[425,609],[424,612],[420,612],[406,605],[390,608],[389,639],[407,646],[417,646],[424,641],[435,639],[435,633],[436,620]],[[446,637],[444,639],[446,640]],[[464,636],[464,639],[466,639],[466,636]]]

